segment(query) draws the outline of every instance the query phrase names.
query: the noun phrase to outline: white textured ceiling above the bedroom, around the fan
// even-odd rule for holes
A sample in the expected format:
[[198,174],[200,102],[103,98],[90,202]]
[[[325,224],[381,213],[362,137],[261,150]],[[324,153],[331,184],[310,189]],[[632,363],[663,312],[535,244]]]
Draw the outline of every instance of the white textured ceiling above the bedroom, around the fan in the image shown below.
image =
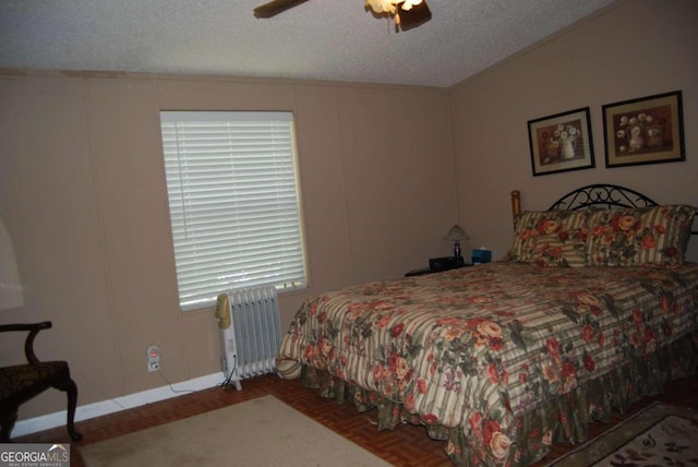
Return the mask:
[[363,0],[0,0],[0,68],[450,86],[617,0],[429,0],[396,33]]

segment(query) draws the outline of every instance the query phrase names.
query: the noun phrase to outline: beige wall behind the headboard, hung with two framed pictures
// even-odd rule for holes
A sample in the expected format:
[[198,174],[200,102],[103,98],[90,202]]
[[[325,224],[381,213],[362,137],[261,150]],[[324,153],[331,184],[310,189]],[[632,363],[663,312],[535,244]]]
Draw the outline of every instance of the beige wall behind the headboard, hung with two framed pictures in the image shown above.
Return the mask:
[[[459,212],[472,242],[500,256],[508,250],[513,189],[529,209],[597,182],[698,206],[697,22],[694,0],[619,2],[455,86]],[[601,107],[676,89],[683,91],[686,161],[605,168]],[[527,122],[587,106],[595,168],[533,177]],[[688,258],[698,261],[698,236]]]

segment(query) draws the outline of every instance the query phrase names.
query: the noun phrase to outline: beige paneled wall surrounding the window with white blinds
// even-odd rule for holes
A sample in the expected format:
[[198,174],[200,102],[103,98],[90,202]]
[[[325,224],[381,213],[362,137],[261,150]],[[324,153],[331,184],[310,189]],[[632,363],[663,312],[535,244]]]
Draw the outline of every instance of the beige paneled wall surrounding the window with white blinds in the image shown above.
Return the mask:
[[[212,310],[178,309],[159,109],[294,112],[311,287],[280,297],[284,328],[310,294],[452,248],[445,89],[4,72],[0,101],[0,206],[26,288],[0,323],[53,322],[37,355],[70,362],[80,406],[219,371]],[[0,364],[22,361],[20,338],[0,339]],[[151,344],[161,375],[146,370]],[[64,408],[49,391],[20,420]]]

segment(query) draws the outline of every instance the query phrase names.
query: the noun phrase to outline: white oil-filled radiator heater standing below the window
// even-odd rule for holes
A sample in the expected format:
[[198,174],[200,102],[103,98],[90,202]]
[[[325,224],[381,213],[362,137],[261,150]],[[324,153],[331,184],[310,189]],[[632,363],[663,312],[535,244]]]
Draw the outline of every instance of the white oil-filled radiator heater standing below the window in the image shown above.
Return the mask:
[[225,384],[242,388],[241,380],[275,371],[281,342],[276,287],[220,294],[216,301],[220,330],[220,367]]

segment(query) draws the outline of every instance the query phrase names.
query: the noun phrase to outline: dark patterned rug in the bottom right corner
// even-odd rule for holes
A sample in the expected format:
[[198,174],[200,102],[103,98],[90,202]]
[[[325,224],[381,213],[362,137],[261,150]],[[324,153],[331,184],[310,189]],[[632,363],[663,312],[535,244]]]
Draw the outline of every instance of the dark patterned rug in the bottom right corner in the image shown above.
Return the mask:
[[551,466],[698,466],[698,411],[654,403]]

